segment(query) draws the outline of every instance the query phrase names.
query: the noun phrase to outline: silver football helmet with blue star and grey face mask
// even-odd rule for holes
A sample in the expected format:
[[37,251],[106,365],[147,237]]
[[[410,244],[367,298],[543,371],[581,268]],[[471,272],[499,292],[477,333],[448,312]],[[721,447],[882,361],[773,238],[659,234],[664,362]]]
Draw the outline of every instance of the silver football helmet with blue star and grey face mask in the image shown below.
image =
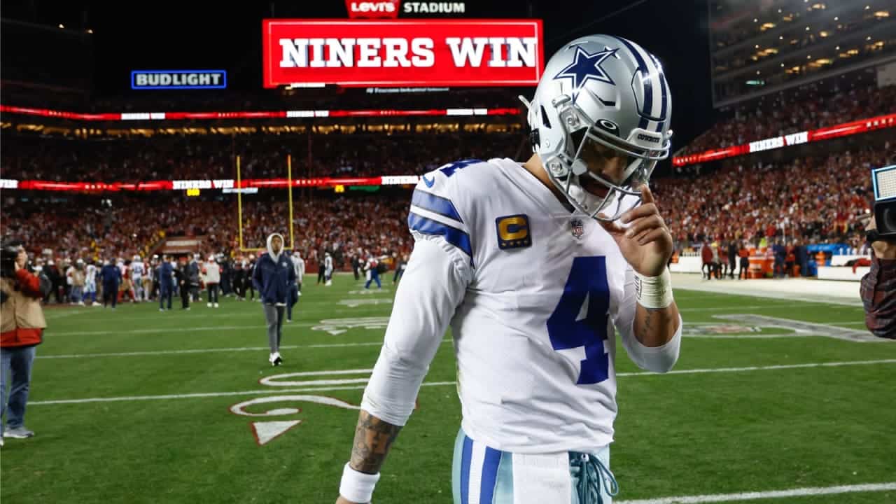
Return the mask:
[[[529,108],[532,150],[574,208],[615,221],[641,203],[640,188],[668,157],[672,136],[672,94],[656,56],[620,37],[575,39],[547,62],[531,102],[521,100]],[[618,180],[583,159],[584,152],[607,149],[626,157]],[[582,188],[584,177],[607,187],[606,196]]]

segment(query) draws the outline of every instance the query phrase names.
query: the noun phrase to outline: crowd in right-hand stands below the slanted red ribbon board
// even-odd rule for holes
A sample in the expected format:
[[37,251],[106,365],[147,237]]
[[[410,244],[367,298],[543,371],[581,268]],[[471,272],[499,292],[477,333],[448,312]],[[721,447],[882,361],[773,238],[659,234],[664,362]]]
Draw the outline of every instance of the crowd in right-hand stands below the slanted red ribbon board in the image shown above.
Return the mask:
[[702,176],[659,178],[652,186],[679,248],[774,237],[858,248],[864,226],[857,217],[872,203],[870,169],[896,161],[892,147],[885,142],[786,163],[738,164]]

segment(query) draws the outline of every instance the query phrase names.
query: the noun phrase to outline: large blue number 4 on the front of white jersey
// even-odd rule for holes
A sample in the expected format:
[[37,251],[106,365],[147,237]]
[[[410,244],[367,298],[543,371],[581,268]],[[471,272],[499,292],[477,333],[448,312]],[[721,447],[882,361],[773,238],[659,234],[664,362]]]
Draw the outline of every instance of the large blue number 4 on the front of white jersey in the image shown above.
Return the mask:
[[547,319],[547,335],[554,350],[585,347],[578,385],[600,383],[609,375],[604,351],[610,302],[607,260],[604,256],[575,257],[563,295]]

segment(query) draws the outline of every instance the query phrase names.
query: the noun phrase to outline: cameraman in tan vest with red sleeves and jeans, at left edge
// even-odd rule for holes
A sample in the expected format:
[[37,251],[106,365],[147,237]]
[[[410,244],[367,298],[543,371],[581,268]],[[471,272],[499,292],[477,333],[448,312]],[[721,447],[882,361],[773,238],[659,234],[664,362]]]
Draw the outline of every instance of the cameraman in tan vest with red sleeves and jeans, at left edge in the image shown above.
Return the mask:
[[[25,428],[25,404],[31,381],[31,364],[44,327],[40,300],[52,288],[46,275],[31,274],[26,268],[28,255],[21,241],[3,244],[0,248],[0,415],[5,413],[4,438],[30,438],[34,432]],[[12,375],[12,388],[6,395],[6,375]],[[7,410],[6,406],[9,406]]]

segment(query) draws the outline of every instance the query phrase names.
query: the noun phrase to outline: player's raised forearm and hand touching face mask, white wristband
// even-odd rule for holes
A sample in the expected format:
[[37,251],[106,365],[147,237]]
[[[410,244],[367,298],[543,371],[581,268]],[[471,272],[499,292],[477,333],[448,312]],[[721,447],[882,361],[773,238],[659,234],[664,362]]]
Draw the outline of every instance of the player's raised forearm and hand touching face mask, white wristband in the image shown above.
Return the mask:
[[635,363],[643,369],[665,372],[678,358],[682,326],[667,268],[673,252],[672,234],[659,215],[650,188],[644,186],[641,191],[642,204],[620,218],[620,222],[629,224],[627,228],[616,222],[601,225],[633,270],[626,276],[625,299],[620,303],[616,328]]

